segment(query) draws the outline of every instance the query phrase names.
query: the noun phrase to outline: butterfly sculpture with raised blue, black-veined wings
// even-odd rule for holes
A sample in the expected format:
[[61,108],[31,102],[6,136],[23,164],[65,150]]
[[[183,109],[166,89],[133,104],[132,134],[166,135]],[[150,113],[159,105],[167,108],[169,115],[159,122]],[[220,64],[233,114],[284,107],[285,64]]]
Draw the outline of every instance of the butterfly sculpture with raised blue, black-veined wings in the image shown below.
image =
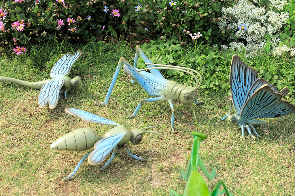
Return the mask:
[[230,65],[230,91],[236,114],[231,114],[229,105],[230,113],[220,119],[238,124],[243,139],[245,128],[252,138],[255,139],[255,136],[251,129],[261,137],[253,125],[263,125],[266,121],[257,118],[275,118],[295,113],[294,105],[281,99],[289,93],[289,89],[284,87],[279,91],[265,79],[258,78],[256,70],[248,67],[237,55],[233,55]]

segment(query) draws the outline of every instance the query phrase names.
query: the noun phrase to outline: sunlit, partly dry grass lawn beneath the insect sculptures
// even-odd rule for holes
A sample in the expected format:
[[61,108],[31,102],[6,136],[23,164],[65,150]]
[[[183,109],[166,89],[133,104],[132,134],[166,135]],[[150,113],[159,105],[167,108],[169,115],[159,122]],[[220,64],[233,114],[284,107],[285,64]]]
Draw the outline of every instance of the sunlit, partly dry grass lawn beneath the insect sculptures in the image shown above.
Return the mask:
[[[42,48],[41,48],[42,49]],[[94,106],[103,101],[119,57],[132,63],[134,49],[127,44],[111,46],[100,42],[74,48],[35,48],[30,57],[7,59],[0,57],[0,76],[27,81],[49,78],[49,72],[60,54],[81,49],[82,57],[74,64],[70,77],[82,77],[83,89],[72,89],[65,100],[60,98],[55,109],[38,107],[39,90],[17,84],[0,83],[0,195],[168,195],[172,188],[183,193],[185,182],[179,180],[181,170],[189,162],[196,130],[192,109],[195,109],[199,130],[211,115],[206,129],[209,138],[201,143],[200,157],[209,171],[216,167],[217,179],[206,181],[212,191],[219,179],[224,180],[232,195],[295,195],[295,122],[294,114],[257,127],[263,137],[252,139],[241,129],[219,120],[228,111],[225,96],[229,89],[202,89],[199,100],[205,103],[185,109],[175,103],[175,128],[171,132],[171,109],[166,102],[145,103],[135,119],[132,114],[140,99],[148,98],[137,84],[127,82],[120,72],[110,102],[105,107]],[[234,53],[233,53],[234,54]],[[231,54],[232,55],[232,54]],[[228,56],[228,54],[227,54]],[[37,57],[40,57],[37,59]],[[224,57],[226,69],[230,57]],[[43,59],[49,59],[43,61]],[[181,59],[179,59],[181,61]],[[39,67],[35,67],[40,61]],[[39,69],[41,68],[41,69]],[[293,68],[294,69],[294,68]],[[289,86],[287,86],[289,87]],[[288,97],[291,100],[292,94]],[[84,162],[71,181],[61,182],[87,152],[67,152],[50,149],[50,141],[74,129],[89,127],[104,134],[112,126],[84,122],[65,112],[65,107],[97,114],[126,126],[128,129],[158,125],[152,131],[163,134],[144,134],[142,142],[128,147],[132,154],[145,158],[141,162],[118,150],[109,167]]]

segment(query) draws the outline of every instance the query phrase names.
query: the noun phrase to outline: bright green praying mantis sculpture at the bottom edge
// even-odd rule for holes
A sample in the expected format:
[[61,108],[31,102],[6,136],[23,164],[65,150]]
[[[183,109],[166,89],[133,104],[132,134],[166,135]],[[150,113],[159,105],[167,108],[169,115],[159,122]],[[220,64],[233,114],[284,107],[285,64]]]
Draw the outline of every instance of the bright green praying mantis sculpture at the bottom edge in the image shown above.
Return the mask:
[[[193,111],[194,112],[194,111]],[[195,121],[196,115],[194,112]],[[209,119],[209,121],[211,118]],[[209,123],[208,121],[208,123]],[[207,123],[207,125],[208,125]],[[207,127],[205,126],[205,128]],[[205,130],[204,128],[204,130]],[[189,164],[186,172],[184,170],[181,171],[180,179],[184,179],[187,181],[186,187],[184,188],[184,193],[182,195],[178,195],[174,190],[170,189],[170,196],[216,196],[226,193],[227,196],[232,196],[227,189],[227,186],[222,180],[218,180],[217,185],[214,190],[210,192],[207,183],[205,182],[203,176],[198,172],[198,166],[209,180],[212,180],[213,177],[217,178],[215,167],[212,172],[209,174],[205,165],[203,164],[199,152],[200,152],[200,143],[208,138],[206,133],[200,133],[196,131],[192,131],[191,135],[194,137],[193,147],[191,150],[191,158],[189,160]],[[220,186],[224,187],[224,190],[220,190]]]

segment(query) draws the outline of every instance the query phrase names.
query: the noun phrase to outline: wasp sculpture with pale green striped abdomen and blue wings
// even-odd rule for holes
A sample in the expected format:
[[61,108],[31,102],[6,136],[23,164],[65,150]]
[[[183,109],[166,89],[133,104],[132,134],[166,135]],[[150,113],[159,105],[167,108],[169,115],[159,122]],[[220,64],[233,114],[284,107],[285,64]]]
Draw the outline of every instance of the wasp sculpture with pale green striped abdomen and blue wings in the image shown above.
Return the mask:
[[154,133],[163,137],[161,134],[153,131],[144,131],[144,129],[155,128],[158,126],[144,127],[141,129],[127,129],[126,127],[113,122],[111,120],[105,119],[103,117],[85,112],[80,109],[66,108],[66,112],[73,116],[81,117],[81,119],[87,122],[93,122],[98,124],[106,124],[116,126],[110,129],[105,134],[99,136],[92,129],[89,128],[79,128],[75,129],[64,136],[57,139],[55,142],[51,142],[50,148],[55,150],[70,150],[70,151],[85,151],[94,147],[94,150],[88,152],[78,163],[74,171],[65,177],[62,181],[70,180],[73,175],[77,172],[82,162],[88,157],[88,162],[91,165],[98,165],[106,159],[106,157],[113,151],[111,158],[106,162],[106,164],[101,167],[99,171],[104,170],[109,163],[114,159],[116,151],[119,148],[125,148],[127,154],[131,157],[145,161],[145,159],[132,155],[126,146],[130,141],[134,146],[139,144],[142,140],[143,133]]

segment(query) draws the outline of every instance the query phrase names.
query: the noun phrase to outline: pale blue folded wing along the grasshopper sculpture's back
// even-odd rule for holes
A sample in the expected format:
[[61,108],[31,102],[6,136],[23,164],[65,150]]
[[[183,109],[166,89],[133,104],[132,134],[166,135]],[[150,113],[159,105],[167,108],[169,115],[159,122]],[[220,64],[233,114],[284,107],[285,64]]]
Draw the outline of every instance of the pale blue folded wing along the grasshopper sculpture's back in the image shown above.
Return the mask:
[[[135,68],[138,72],[138,68]],[[129,74],[131,77],[134,77],[134,74],[128,69],[126,65],[123,65],[123,70],[125,73]],[[165,78],[161,78],[158,76],[155,76],[154,74],[151,74],[149,72],[141,71],[140,74],[157,90],[166,90],[167,82],[169,80]],[[135,77],[134,77],[135,78]]]

